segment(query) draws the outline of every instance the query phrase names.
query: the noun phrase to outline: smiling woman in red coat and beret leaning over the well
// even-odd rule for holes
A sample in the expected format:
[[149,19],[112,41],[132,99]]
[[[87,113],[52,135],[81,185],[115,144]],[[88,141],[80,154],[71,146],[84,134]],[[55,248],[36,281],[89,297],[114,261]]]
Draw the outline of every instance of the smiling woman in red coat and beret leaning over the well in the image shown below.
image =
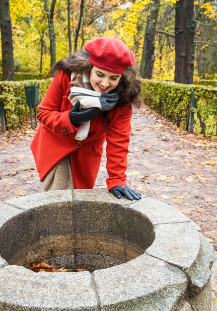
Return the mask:
[[44,190],[92,189],[106,140],[108,190],[141,198],[125,182],[132,102],[140,101],[134,64],[121,40],[100,37],[51,69],[57,75],[39,105],[31,144]]

